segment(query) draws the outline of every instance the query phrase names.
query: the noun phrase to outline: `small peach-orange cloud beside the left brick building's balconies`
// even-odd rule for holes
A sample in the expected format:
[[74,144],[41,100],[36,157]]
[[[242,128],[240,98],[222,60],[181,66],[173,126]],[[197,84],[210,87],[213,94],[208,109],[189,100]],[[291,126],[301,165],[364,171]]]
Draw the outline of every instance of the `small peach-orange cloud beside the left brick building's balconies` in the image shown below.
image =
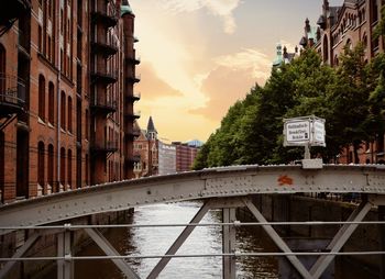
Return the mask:
[[138,86],[138,90],[141,92],[142,99],[183,96],[179,90],[162,80],[150,63],[142,63],[139,71],[142,80]]

